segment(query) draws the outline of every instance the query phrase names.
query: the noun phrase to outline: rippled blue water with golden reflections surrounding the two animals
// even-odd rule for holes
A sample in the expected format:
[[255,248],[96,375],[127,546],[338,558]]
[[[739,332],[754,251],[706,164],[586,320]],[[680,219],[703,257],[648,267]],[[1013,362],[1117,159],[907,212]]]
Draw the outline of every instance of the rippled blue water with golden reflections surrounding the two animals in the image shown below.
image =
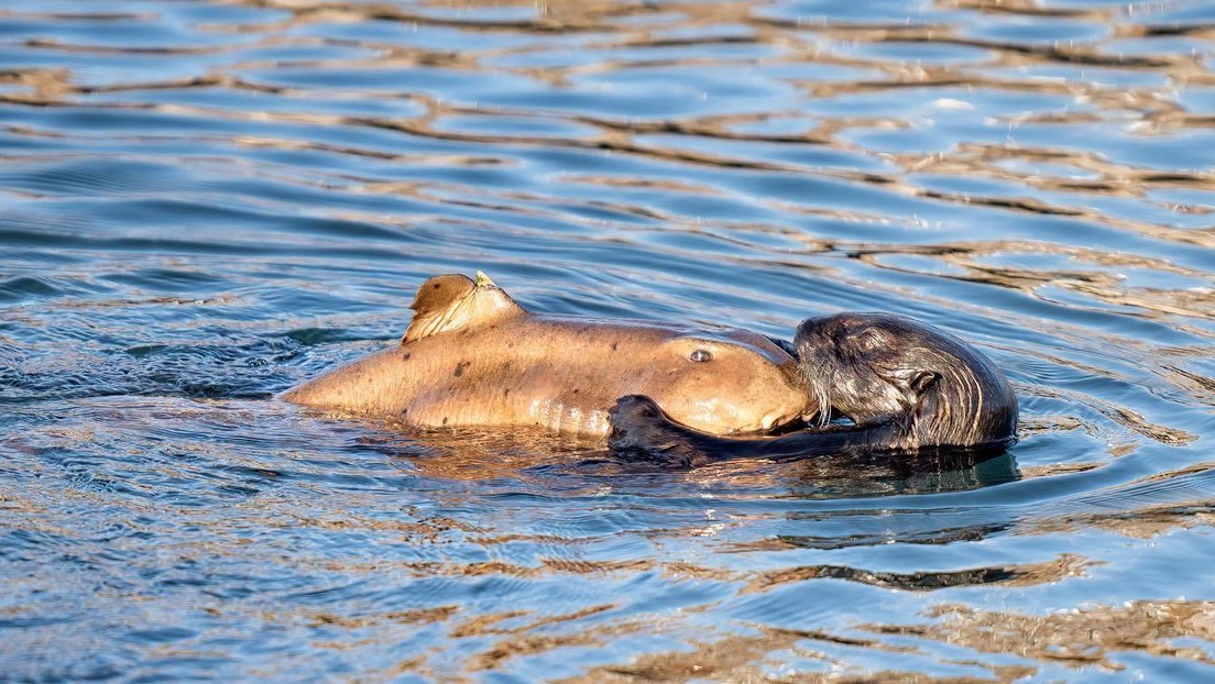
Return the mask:
[[[0,6],[0,678],[1215,675],[1215,5]],[[622,473],[271,400],[481,268],[904,312],[1022,442]]]

